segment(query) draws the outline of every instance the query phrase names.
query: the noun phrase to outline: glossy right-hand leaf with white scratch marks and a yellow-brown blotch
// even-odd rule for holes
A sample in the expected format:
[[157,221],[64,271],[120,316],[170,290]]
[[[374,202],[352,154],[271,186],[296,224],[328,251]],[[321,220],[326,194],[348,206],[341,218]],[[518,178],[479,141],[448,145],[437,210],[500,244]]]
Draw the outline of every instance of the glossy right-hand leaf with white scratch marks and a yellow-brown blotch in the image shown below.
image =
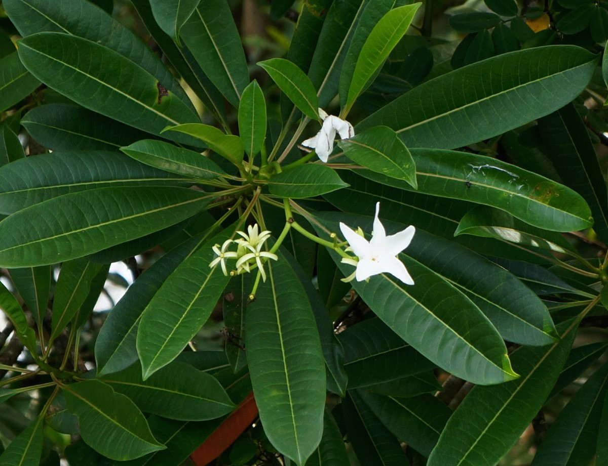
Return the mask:
[[[485,204],[538,228],[573,231],[592,225],[591,211],[577,192],[509,163],[455,150],[412,149],[418,191]],[[383,181],[383,175],[364,174]],[[404,181],[384,182],[412,189]]]

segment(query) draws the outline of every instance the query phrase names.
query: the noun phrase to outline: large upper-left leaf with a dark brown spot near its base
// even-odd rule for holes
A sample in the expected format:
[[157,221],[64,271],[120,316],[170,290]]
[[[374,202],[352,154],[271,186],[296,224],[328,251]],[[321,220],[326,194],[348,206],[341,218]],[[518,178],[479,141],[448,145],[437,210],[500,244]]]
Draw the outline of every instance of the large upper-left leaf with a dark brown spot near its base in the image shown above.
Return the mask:
[[129,126],[159,134],[167,125],[198,121],[196,113],[159,87],[153,75],[96,42],[57,32],[38,33],[19,42],[19,58],[47,86]]

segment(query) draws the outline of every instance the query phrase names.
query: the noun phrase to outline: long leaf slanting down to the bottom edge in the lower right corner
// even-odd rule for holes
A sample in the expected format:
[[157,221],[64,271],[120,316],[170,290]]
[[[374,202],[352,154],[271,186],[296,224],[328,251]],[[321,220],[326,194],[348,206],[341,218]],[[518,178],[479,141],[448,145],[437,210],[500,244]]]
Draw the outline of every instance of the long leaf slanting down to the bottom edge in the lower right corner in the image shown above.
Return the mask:
[[[429,466],[495,464],[519,439],[559,376],[578,322],[558,326],[561,341],[511,355],[517,380],[474,387],[447,422]],[[458,435],[454,435],[457,432]]]

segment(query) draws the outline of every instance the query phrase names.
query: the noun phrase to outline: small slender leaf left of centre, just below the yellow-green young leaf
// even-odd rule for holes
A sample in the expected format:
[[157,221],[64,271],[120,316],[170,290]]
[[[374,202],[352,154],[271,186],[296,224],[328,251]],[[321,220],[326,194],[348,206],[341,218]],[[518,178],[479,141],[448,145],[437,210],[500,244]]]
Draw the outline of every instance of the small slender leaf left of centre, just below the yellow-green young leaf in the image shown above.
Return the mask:
[[185,177],[212,180],[226,175],[226,172],[204,155],[164,141],[137,141],[128,147],[120,147],[120,150],[141,163]]

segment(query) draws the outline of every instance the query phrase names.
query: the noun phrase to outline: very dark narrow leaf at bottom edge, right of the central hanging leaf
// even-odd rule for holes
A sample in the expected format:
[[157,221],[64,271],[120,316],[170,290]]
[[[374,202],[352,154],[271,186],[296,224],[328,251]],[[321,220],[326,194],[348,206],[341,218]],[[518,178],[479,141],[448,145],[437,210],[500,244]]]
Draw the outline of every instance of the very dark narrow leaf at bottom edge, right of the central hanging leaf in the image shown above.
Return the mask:
[[348,391],[342,401],[342,413],[348,440],[360,464],[409,465],[399,441],[382,425],[358,392]]

